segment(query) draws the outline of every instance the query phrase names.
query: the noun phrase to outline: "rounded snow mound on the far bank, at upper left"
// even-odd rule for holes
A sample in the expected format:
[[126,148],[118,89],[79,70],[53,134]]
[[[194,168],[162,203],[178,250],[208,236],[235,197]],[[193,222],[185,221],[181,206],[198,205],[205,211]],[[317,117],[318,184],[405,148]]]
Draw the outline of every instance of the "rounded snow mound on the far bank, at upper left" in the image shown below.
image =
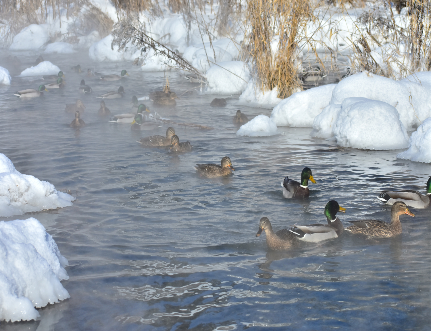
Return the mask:
[[[50,40],[47,28],[42,25],[31,24],[23,28],[13,37],[10,50],[38,50]],[[57,71],[58,72],[58,71]]]

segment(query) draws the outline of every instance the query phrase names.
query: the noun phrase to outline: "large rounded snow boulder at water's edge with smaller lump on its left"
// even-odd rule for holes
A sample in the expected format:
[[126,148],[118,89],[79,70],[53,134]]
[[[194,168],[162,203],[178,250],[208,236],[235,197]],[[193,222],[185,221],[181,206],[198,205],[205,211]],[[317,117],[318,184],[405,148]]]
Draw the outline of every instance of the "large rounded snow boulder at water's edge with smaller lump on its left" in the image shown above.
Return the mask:
[[382,101],[346,98],[341,105],[328,105],[313,127],[328,124],[340,146],[381,150],[406,148],[408,143],[397,109]]

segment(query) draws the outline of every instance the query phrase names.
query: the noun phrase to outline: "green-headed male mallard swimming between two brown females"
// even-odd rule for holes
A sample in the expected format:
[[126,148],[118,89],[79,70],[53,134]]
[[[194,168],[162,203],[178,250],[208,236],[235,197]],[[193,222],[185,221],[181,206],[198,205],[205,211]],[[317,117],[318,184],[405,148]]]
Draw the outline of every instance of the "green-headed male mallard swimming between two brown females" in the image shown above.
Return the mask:
[[289,231],[302,241],[319,242],[337,238],[343,233],[344,227],[343,223],[335,215],[339,211],[345,213],[345,210],[346,208],[340,207],[337,201],[331,200],[325,206],[325,216],[328,224],[294,225]]

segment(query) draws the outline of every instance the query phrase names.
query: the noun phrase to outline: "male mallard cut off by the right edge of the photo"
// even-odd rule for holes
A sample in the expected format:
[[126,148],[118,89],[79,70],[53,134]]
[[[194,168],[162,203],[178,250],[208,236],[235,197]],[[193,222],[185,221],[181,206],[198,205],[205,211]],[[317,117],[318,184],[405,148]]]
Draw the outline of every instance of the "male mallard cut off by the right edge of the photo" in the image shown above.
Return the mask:
[[385,204],[394,204],[395,201],[403,201],[413,208],[427,208],[431,200],[431,177],[427,182],[427,195],[413,190],[383,191],[377,198]]

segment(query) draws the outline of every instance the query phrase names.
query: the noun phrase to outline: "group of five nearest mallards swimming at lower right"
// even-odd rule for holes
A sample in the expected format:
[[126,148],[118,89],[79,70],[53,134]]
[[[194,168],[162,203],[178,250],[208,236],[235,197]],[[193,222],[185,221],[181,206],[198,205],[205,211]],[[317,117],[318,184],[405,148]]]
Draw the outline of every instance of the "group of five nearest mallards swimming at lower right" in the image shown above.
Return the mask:
[[[288,177],[281,182],[284,198],[308,198],[308,181],[316,183],[311,170],[306,167],[301,173],[301,182]],[[282,229],[277,232],[272,230],[271,222],[267,217],[262,217],[259,223],[258,237],[262,231],[266,234],[266,244],[270,249],[283,249],[297,246],[300,241],[319,242],[330,238],[339,237],[344,230],[365,235],[368,238],[387,238],[400,235],[402,226],[400,216],[403,214],[415,217],[407,205],[414,208],[427,208],[431,201],[431,177],[426,186],[426,195],[413,190],[384,191],[378,199],[385,204],[392,205],[390,223],[380,220],[349,221],[353,225],[344,228],[343,223],[337,217],[338,212],[345,213],[337,201],[331,200],[325,206],[327,224],[292,225],[290,229]]]

